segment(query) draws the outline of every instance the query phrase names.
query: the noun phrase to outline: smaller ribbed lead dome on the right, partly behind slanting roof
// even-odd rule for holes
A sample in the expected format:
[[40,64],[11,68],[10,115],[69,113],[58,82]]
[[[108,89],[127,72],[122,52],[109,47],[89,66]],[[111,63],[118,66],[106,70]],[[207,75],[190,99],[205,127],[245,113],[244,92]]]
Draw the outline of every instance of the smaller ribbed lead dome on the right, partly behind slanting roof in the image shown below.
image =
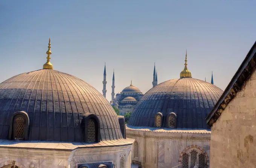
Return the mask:
[[[193,78],[172,79],[150,89],[134,108],[131,126],[154,126],[155,114],[177,115],[177,129],[210,129],[206,116],[216,104],[222,90]],[[164,124],[163,124],[164,125]]]

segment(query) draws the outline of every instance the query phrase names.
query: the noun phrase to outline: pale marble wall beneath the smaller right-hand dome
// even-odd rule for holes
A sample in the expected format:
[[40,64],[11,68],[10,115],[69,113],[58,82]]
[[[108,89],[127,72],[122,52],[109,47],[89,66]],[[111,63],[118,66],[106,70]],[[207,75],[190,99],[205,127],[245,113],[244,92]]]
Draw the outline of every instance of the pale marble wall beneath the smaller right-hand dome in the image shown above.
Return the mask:
[[[127,127],[126,127],[127,128]],[[139,144],[139,157],[132,161],[140,162],[142,168],[181,168],[182,153],[189,148],[204,152],[209,165],[210,133],[168,133],[146,132],[126,129],[126,136]]]

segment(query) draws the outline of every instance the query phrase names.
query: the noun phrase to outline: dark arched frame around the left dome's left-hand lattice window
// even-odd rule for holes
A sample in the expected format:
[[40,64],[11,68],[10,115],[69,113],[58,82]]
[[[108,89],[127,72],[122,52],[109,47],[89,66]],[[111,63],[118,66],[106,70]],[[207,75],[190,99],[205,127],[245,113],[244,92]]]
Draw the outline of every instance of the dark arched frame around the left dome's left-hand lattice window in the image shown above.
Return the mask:
[[24,119],[24,139],[23,140],[26,141],[28,139],[27,134],[28,134],[28,129],[29,129],[29,116],[24,111],[15,112],[14,114],[12,114],[11,120],[10,120],[9,137],[8,138],[14,139],[14,137],[15,137],[16,128],[15,128],[14,124],[15,124],[16,118],[18,118],[18,117],[22,117]]

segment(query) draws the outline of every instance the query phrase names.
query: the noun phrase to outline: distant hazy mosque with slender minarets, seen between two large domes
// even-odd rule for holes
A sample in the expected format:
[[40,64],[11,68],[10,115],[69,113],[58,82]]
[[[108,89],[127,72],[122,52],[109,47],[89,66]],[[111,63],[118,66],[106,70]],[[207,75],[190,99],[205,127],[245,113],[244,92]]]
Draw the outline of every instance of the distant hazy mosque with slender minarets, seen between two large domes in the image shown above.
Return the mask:
[[[186,76],[187,73],[190,73],[189,70],[184,70],[184,74],[181,74],[183,76]],[[103,73],[103,89],[102,94],[104,97],[106,97],[106,81],[107,73],[106,73],[106,64],[104,66],[104,73]],[[205,77],[206,82],[206,77]],[[212,73],[212,79],[211,84],[213,84],[213,73]],[[155,70],[155,64],[154,64],[154,72],[153,72],[153,81],[152,81],[152,88],[157,86],[157,71]],[[125,115],[128,112],[132,112],[134,107],[137,105],[138,101],[142,98],[144,95],[139,88],[133,86],[133,83],[131,81],[130,86],[127,86],[124,88],[120,93],[118,92],[115,97],[115,74],[113,71],[113,78],[112,78],[112,92],[111,92],[111,106],[117,107],[120,110],[120,115]]]

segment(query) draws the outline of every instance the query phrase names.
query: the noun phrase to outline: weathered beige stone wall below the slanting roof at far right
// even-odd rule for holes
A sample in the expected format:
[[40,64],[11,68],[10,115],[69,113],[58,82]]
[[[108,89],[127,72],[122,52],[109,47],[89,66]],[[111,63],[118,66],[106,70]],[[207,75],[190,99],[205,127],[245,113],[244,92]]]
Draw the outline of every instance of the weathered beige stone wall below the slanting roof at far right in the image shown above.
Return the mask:
[[212,126],[210,168],[256,167],[256,72]]

